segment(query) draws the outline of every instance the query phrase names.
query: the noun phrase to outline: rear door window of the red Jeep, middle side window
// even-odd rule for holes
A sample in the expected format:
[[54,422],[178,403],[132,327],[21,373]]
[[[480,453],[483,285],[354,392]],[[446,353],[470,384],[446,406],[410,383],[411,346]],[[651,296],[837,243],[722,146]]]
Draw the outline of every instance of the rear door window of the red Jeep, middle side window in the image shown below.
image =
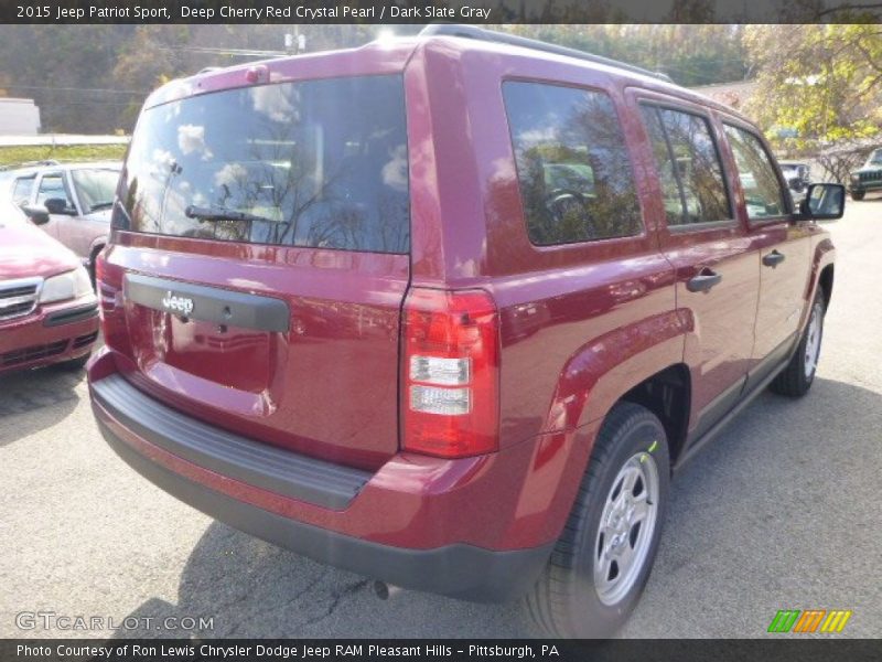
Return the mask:
[[[720,154],[707,118],[655,106],[644,106],[643,115],[653,140],[668,224],[731,218]],[[675,185],[679,205],[674,195]]]

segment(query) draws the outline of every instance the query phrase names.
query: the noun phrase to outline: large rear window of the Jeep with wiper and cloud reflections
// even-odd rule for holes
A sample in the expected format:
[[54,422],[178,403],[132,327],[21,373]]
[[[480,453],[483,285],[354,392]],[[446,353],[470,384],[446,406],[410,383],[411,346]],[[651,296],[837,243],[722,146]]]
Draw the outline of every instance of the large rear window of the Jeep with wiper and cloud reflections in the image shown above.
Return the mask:
[[148,109],[121,193],[115,226],[135,232],[407,253],[402,79],[263,85]]

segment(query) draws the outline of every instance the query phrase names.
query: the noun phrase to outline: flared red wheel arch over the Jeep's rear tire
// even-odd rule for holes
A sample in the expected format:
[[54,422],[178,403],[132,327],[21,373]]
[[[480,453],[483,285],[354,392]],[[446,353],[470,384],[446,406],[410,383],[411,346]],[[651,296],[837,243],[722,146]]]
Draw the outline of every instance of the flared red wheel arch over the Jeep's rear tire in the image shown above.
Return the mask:
[[[682,363],[690,320],[680,310],[650,316],[583,344],[562,366],[521,487],[524,503],[541,513],[545,542],[560,536],[590,470],[598,434],[616,404],[647,407],[662,419],[674,447],[682,446],[691,402]],[[675,412],[677,406],[685,409]]]

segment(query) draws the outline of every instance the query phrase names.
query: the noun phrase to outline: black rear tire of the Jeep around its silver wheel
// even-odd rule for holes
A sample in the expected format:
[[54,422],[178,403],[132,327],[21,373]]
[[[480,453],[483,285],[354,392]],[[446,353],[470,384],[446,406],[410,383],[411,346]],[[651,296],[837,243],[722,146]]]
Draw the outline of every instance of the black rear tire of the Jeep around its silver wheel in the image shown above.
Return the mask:
[[[652,461],[656,469],[655,521],[646,541],[639,543],[641,548],[645,548],[642,562],[635,562],[634,569],[623,575],[623,579],[631,578],[621,586],[622,589],[627,587],[626,592],[607,604],[609,600],[601,599],[594,580],[595,557],[602,556],[596,552],[604,542],[599,537],[601,516],[607,502],[614,501],[616,489],[621,494],[619,485],[623,479],[620,480],[620,472],[630,462],[630,466],[635,466],[633,462],[637,458],[641,466]],[[658,548],[668,500],[669,466],[667,437],[658,418],[645,407],[632,403],[613,407],[598,434],[588,471],[560,540],[545,572],[525,597],[527,617],[539,634],[603,638],[615,633],[627,620],[646,586]],[[636,548],[636,545],[632,547],[632,535],[633,528],[628,531],[625,544]]]

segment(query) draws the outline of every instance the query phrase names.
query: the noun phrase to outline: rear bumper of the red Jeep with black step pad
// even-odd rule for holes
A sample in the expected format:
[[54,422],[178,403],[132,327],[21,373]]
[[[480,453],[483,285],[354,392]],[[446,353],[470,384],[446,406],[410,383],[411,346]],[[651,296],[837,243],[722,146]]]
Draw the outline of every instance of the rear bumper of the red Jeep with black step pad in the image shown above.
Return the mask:
[[[471,512],[461,508],[451,496],[462,485],[451,483],[451,472],[443,471],[450,461],[435,462],[438,479],[428,487],[396,482],[386,467],[376,473],[335,467],[340,474],[334,477],[329,463],[300,456],[300,467],[290,461],[282,467],[275,453],[293,453],[192,418],[179,420],[189,417],[131,385],[116,397],[108,395],[108,384],[127,383],[118,373],[103,374],[106,366],[99,364],[106,359],[93,362],[89,381],[93,409],[108,445],[164,491],[239,531],[388,584],[476,601],[523,595],[548,560],[553,541],[494,549],[456,540],[459,524],[486,517],[495,504],[474,504]],[[251,450],[265,461],[255,462]],[[407,470],[413,473],[419,467]],[[316,473],[323,478],[316,481]],[[480,477],[478,471],[474,478]],[[400,526],[401,511],[407,511],[412,531],[430,526],[449,542],[431,547],[389,544],[387,540],[400,541],[408,533],[391,531]]]

